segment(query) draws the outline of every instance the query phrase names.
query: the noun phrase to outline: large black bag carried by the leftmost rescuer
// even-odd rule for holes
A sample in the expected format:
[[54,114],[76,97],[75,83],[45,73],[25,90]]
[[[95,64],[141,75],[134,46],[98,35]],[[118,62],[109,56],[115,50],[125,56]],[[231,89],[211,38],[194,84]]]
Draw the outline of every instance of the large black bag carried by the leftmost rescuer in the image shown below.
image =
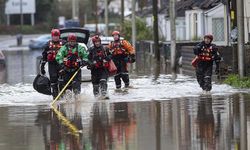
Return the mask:
[[33,81],[33,88],[39,93],[51,95],[50,80],[46,76],[38,74]]

